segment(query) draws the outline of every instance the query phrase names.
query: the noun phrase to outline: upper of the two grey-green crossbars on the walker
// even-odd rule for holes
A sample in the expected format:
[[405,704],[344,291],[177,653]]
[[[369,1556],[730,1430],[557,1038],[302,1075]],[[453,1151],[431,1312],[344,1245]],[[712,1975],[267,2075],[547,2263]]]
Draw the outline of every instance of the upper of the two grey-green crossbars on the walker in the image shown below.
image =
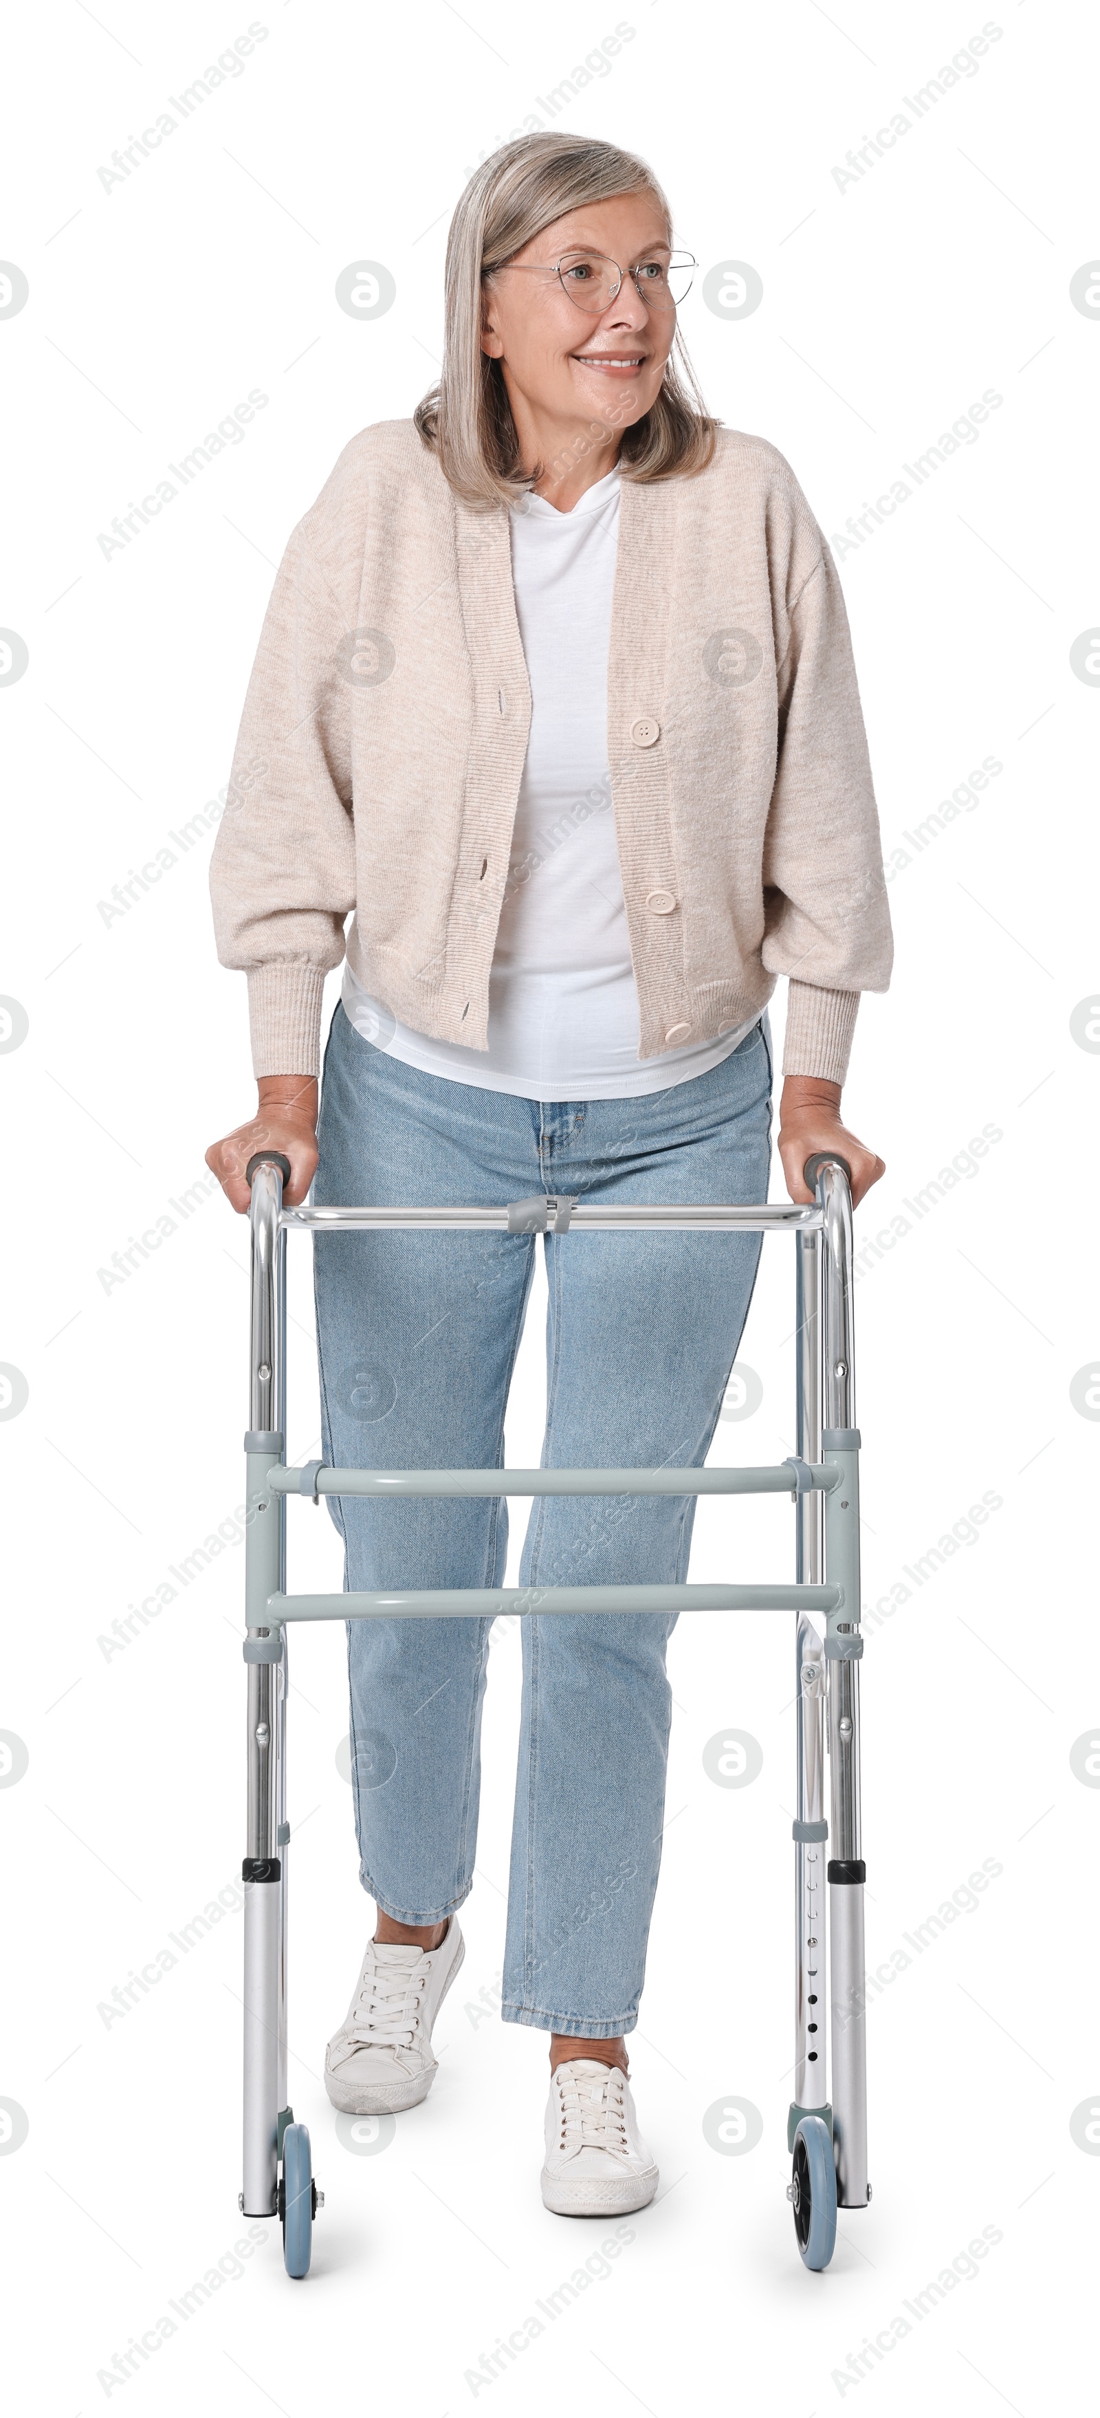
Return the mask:
[[827,1494],[836,1470],[791,1460],[762,1470],[268,1470],[273,1494]]

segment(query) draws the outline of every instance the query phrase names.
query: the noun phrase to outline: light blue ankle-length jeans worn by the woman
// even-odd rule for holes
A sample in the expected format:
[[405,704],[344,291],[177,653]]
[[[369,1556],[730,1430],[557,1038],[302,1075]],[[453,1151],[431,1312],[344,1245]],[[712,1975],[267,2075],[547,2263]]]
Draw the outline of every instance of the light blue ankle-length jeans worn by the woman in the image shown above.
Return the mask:
[[[317,1202],[532,1192],[766,1199],[766,1018],[720,1066],[641,1100],[539,1103],[421,1074],[336,1008]],[[500,1468],[534,1236],[314,1240],[324,1456]],[[546,1236],[544,1468],[701,1465],[759,1262],[752,1233]],[[346,1586],[503,1586],[508,1506],[329,1499]],[[520,1584],[682,1581],[694,1497],[539,1497]],[[675,1615],[522,1618],[503,2017],[580,2038],[638,2019],[665,1818]],[[469,1896],[488,1620],[351,1620],[360,1879],[399,1922]]]

